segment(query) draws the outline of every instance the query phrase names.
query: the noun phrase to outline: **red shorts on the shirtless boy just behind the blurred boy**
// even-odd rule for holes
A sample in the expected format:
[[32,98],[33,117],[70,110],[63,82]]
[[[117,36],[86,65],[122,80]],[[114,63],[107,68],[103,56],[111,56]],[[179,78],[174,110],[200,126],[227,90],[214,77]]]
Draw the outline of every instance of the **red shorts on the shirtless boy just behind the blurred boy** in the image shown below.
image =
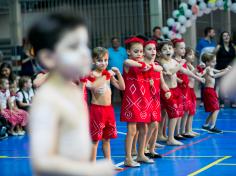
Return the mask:
[[91,104],[90,134],[93,141],[117,137],[113,107]]

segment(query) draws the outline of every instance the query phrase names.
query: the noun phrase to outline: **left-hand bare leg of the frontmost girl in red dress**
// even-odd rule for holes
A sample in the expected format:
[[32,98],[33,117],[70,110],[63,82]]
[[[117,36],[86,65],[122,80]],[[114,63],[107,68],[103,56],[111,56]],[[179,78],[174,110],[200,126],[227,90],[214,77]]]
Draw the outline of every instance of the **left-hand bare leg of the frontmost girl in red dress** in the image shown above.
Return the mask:
[[133,158],[131,155],[131,150],[134,136],[136,134],[136,123],[128,122],[127,127],[128,127],[128,132],[125,139],[126,161],[132,162]]

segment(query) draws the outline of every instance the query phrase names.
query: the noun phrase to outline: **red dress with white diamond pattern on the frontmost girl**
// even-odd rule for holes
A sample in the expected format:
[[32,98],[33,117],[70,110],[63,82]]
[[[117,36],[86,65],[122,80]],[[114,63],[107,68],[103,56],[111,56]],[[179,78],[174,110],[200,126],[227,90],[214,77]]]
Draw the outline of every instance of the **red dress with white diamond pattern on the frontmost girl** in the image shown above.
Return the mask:
[[124,70],[125,90],[122,99],[120,120],[122,122],[151,121],[149,107],[150,93],[142,68],[130,67],[128,73]]

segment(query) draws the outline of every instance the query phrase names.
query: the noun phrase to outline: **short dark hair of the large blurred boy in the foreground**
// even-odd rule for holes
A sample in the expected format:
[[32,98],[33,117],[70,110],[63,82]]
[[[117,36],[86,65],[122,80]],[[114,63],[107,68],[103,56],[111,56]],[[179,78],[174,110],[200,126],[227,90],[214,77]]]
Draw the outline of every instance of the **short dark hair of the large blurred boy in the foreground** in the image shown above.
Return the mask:
[[42,49],[54,50],[63,34],[78,26],[87,26],[85,20],[67,12],[54,13],[37,21],[29,30],[28,39],[37,55]]

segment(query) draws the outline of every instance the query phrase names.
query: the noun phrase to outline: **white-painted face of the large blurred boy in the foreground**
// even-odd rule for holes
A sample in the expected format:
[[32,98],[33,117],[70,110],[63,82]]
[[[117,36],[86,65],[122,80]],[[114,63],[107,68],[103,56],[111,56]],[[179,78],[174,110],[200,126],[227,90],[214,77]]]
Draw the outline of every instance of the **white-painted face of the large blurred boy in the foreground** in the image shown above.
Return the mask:
[[91,55],[88,48],[88,31],[78,27],[67,32],[56,48],[56,69],[74,79],[87,75],[91,67]]

